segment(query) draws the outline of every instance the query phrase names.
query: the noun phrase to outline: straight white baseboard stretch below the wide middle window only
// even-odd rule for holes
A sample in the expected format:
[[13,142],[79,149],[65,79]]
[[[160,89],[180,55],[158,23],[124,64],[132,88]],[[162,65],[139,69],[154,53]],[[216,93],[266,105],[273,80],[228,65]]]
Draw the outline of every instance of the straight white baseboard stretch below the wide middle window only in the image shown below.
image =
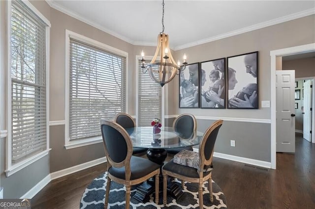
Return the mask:
[[63,170],[60,170],[60,171],[56,171],[56,172],[50,174],[50,178],[51,178],[51,180],[58,179],[60,177],[63,177],[63,176],[66,176],[66,175],[69,175],[69,174],[72,174],[72,173],[75,173],[75,172],[78,172],[78,171],[82,171],[84,169],[93,167],[93,166],[101,164],[103,162],[107,162],[106,157],[101,157],[101,158],[98,158],[98,159],[95,159],[95,160],[92,160],[92,161],[89,161],[89,162],[85,162],[85,163],[82,163],[82,164],[79,164],[79,165],[75,165],[75,166],[70,167],[70,168],[66,168],[66,169],[63,169]]

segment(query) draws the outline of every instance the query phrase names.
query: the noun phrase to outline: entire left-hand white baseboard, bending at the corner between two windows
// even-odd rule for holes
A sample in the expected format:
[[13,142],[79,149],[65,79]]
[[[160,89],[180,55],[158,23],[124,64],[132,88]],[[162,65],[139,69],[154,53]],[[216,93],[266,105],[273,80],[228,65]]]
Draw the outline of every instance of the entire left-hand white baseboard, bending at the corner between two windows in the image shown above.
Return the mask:
[[107,162],[106,157],[101,157],[89,162],[85,162],[70,168],[63,169],[61,171],[56,171],[54,173],[48,174],[43,180],[41,180],[39,183],[33,186],[32,189],[25,193],[20,199],[32,199],[41,189],[43,189],[52,180],[93,167],[103,162]]

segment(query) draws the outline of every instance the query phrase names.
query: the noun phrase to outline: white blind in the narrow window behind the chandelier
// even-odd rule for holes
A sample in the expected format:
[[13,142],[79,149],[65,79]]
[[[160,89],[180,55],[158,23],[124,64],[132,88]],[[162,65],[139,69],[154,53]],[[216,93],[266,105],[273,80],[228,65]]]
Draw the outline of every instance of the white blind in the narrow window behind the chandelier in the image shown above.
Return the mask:
[[[146,65],[150,61],[146,61]],[[151,126],[154,118],[162,120],[162,88],[154,82],[149,72],[142,73],[142,61],[138,63],[138,126]],[[156,66],[155,68],[158,69]]]

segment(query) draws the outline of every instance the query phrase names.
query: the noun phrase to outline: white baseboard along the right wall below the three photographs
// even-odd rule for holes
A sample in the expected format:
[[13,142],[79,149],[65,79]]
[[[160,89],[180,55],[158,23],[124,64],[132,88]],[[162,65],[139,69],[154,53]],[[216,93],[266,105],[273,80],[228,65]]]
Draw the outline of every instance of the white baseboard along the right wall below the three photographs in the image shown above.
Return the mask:
[[[197,148],[193,148],[193,151],[198,152],[198,149]],[[266,161],[257,160],[257,159],[226,155],[226,154],[223,154],[223,153],[216,153],[216,152],[213,153],[213,157],[219,157],[219,158],[222,158],[222,159],[233,160],[233,161],[236,161],[236,162],[242,162],[242,163],[256,165],[256,166],[264,167],[264,168],[271,168],[271,162],[266,162]]]

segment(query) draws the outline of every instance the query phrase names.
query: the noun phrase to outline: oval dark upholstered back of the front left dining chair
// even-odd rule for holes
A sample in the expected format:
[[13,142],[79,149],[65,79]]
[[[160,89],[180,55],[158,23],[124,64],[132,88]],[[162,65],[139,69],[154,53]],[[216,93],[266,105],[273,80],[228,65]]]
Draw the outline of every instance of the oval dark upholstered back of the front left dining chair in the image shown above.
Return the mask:
[[101,120],[101,132],[108,162],[114,167],[124,166],[124,161],[129,161],[132,155],[128,133],[119,124],[108,120]]

